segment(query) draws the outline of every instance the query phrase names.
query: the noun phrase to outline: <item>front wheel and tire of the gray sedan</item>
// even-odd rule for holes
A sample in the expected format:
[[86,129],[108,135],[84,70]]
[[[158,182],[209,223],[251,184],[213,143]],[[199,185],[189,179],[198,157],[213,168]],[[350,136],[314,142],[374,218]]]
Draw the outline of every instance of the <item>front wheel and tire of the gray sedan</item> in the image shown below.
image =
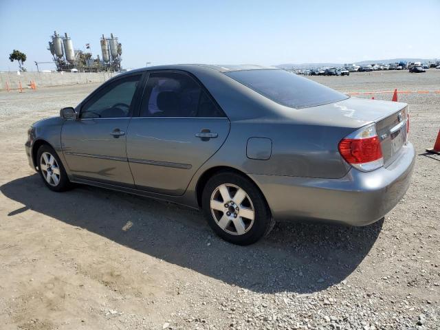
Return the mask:
[[72,188],[67,173],[54,148],[43,144],[36,153],[39,173],[43,182],[52,191],[61,192]]

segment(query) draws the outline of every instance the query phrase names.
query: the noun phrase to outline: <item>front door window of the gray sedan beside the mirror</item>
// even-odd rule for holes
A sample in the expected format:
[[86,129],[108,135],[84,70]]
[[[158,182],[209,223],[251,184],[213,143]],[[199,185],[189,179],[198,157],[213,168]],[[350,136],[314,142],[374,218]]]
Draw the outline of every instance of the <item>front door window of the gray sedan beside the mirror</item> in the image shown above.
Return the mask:
[[88,100],[80,118],[125,118],[130,116],[131,101],[142,75],[129,76],[109,83]]

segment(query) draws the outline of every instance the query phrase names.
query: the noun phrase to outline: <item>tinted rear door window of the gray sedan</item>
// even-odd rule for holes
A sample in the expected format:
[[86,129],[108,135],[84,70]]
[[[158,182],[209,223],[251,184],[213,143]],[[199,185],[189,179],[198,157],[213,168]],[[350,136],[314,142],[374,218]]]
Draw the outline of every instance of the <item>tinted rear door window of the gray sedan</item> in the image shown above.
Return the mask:
[[195,79],[187,74],[150,74],[141,117],[225,117]]

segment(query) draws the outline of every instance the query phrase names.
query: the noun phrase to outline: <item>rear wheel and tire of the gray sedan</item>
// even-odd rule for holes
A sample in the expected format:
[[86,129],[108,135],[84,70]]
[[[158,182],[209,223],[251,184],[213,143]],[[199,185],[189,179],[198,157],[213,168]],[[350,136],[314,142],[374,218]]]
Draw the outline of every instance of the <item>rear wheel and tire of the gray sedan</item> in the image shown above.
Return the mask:
[[230,243],[250,245],[274,228],[275,221],[259,188],[237,173],[211,177],[203,189],[202,207],[212,230]]

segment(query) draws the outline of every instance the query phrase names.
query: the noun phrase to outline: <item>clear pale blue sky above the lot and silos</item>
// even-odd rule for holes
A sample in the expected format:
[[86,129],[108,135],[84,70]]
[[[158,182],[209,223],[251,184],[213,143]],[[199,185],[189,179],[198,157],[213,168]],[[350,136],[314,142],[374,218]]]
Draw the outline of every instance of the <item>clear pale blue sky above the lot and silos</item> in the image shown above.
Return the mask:
[[[0,0],[0,71],[52,61],[47,42],[71,36],[75,49],[100,36],[122,43],[122,67],[171,63],[355,63],[440,58],[440,0],[420,1],[54,1]],[[54,65],[40,65],[54,69]]]

